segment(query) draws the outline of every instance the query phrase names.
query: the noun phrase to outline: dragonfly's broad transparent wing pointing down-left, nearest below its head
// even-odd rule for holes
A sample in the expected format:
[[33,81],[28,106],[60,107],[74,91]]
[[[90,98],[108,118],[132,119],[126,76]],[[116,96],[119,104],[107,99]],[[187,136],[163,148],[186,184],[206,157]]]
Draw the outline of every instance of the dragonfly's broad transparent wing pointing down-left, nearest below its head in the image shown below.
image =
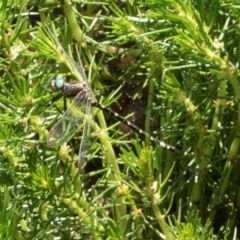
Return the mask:
[[69,141],[74,132],[84,124],[85,114],[89,111],[90,104],[85,92],[80,92],[63,117],[51,128],[47,140],[49,147],[57,148],[64,142]]

